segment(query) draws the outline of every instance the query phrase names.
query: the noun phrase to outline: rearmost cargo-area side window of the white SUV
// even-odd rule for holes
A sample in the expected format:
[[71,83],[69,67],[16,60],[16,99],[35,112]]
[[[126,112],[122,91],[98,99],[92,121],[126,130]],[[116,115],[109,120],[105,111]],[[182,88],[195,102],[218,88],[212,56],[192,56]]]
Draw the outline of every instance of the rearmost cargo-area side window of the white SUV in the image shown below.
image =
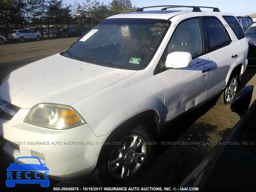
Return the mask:
[[238,40],[245,37],[244,30],[242,29],[241,25],[239,24],[239,22],[236,20],[234,16],[222,16],[222,17],[228,23],[230,28],[233,30]]

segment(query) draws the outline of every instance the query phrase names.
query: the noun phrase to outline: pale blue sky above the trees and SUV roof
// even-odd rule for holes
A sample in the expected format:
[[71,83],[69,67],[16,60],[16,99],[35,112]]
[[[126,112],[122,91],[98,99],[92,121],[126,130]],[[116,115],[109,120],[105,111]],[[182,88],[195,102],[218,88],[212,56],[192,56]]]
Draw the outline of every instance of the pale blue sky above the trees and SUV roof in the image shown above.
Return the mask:
[[[104,4],[109,4],[112,0],[99,0]],[[86,0],[76,0],[82,4]],[[73,4],[74,0],[63,0],[63,3]],[[188,6],[209,6],[218,7],[221,12],[233,13],[236,16],[256,13],[256,0],[132,0],[132,5],[138,7],[154,6],[154,5],[188,5]]]

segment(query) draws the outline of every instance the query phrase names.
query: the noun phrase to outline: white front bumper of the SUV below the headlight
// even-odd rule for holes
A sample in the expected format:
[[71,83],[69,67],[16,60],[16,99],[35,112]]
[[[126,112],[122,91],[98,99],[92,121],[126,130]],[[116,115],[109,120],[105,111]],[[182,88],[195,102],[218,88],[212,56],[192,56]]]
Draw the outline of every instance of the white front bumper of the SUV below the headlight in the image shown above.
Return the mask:
[[57,178],[94,170],[108,135],[95,136],[88,124],[67,130],[30,125],[23,122],[28,112],[29,109],[20,109],[11,120],[0,119],[0,135],[7,141],[2,145],[4,152],[13,158],[37,152],[49,168],[49,175]]

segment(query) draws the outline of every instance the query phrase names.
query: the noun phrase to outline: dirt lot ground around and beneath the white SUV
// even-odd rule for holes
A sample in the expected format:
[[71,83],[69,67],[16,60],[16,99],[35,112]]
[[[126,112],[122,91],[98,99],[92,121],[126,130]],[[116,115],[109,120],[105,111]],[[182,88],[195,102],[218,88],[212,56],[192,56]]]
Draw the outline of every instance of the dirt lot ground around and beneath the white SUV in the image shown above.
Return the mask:
[[[65,50],[76,40],[77,38],[53,39],[0,46],[0,79],[16,68]],[[242,78],[241,86],[256,85],[255,74],[256,68],[248,68]],[[255,99],[254,92],[253,100]],[[127,182],[123,186],[177,187],[213,148],[214,143],[232,133],[232,127],[239,120],[238,115],[232,113],[229,106],[214,104],[215,102],[212,100],[172,124],[169,131],[158,140],[158,146],[148,170],[136,180]],[[163,141],[173,143],[163,145],[163,143],[161,144]],[[183,141],[208,141],[212,144],[183,145]],[[2,157],[0,160],[0,185],[5,186],[6,168],[12,161],[6,159],[2,151],[0,154]],[[50,188],[45,191],[52,191],[54,186],[101,186],[101,183],[97,176],[85,176],[65,182],[51,180]],[[42,190],[40,187],[37,188],[36,190]],[[10,188],[5,187],[4,189],[4,191],[10,191]]]

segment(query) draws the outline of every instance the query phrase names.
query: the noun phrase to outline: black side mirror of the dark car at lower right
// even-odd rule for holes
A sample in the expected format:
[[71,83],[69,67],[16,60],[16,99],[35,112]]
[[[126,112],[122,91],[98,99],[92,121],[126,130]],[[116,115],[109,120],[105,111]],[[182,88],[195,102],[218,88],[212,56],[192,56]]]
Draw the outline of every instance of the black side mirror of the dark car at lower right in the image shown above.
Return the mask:
[[240,118],[246,114],[246,111],[250,106],[253,87],[253,85],[248,85],[242,88],[231,102],[231,111],[237,113]]

